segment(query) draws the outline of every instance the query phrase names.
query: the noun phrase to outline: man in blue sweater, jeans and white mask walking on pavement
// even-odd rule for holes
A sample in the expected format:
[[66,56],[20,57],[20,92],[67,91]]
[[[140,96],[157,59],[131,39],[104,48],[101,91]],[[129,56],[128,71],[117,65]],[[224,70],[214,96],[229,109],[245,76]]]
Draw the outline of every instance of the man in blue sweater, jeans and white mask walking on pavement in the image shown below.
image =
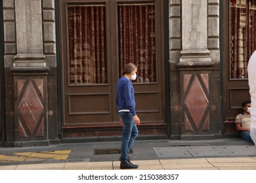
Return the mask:
[[140,124],[135,110],[135,90],[131,80],[135,80],[137,75],[137,66],[134,63],[128,63],[123,68],[123,76],[119,78],[116,84],[116,105],[119,114],[119,122],[123,124],[123,133],[121,138],[121,157],[120,169],[137,169],[139,166],[131,163],[129,152],[131,146],[138,136],[137,125]]

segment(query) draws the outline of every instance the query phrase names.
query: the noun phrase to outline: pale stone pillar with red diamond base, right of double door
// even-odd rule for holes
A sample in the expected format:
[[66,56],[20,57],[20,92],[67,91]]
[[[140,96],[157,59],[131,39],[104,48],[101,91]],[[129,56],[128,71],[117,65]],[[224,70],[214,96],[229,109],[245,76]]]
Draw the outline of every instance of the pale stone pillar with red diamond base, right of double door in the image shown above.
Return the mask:
[[207,0],[182,0],[181,139],[211,139],[212,69],[207,48]]

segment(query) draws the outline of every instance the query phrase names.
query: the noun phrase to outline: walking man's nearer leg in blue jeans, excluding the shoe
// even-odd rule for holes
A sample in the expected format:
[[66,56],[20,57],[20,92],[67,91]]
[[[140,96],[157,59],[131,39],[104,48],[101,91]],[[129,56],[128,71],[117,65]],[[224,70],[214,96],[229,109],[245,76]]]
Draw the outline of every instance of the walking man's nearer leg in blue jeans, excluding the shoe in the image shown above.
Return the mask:
[[120,117],[123,120],[123,133],[121,138],[121,161],[129,161],[128,145],[133,130],[133,115],[130,112],[120,112]]

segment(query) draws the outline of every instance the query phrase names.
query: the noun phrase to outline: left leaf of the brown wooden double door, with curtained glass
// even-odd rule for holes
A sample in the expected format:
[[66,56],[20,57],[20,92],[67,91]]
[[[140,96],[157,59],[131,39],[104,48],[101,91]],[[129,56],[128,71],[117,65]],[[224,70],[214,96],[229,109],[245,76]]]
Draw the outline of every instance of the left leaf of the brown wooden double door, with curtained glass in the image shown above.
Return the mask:
[[[62,27],[65,27],[62,28],[63,126],[116,124],[112,111],[113,86],[109,79],[112,66],[109,54],[105,55],[110,47],[106,44],[109,42],[106,2],[63,0],[61,10]],[[93,15],[104,22],[94,27],[95,20],[89,18]]]

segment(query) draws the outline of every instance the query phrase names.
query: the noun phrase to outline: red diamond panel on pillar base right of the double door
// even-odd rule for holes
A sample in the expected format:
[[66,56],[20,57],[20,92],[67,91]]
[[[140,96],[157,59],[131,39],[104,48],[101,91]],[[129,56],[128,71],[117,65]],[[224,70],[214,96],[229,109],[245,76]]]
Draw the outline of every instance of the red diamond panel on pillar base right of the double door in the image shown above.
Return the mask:
[[184,74],[184,131],[209,131],[209,75]]

